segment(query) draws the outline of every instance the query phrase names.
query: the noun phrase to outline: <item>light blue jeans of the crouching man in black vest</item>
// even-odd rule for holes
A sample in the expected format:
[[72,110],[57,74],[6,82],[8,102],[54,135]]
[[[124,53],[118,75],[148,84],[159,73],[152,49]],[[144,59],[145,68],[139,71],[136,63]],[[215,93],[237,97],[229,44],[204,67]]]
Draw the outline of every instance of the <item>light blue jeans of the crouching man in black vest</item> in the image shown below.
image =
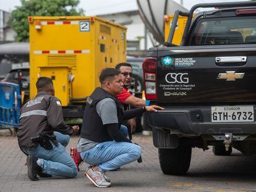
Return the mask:
[[122,165],[139,159],[140,146],[127,143],[107,141],[97,144],[94,148],[80,152],[83,161],[90,165],[97,165],[101,172],[115,170]]

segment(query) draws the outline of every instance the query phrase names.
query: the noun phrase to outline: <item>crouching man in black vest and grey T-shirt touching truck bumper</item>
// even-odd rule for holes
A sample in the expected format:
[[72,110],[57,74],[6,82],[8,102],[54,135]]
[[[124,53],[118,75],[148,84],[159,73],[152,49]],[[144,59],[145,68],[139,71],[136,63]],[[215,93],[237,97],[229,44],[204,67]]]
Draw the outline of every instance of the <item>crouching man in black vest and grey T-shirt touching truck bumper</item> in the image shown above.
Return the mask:
[[159,106],[146,106],[123,111],[115,97],[122,93],[119,70],[106,68],[100,74],[101,88],[88,97],[83,115],[83,125],[77,151],[84,162],[90,164],[85,175],[98,187],[111,185],[105,172],[139,159],[141,148],[132,143],[119,130],[123,120],[131,119],[145,111],[157,112]]

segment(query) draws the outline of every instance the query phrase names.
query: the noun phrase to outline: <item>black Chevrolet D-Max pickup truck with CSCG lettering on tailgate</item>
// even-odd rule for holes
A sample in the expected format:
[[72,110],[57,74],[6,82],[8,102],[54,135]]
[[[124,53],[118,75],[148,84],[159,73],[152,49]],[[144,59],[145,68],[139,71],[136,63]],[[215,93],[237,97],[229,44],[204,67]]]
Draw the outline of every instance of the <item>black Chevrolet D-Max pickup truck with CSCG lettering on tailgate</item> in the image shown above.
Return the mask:
[[[217,7],[199,12],[195,9]],[[180,46],[177,19],[187,17]],[[197,4],[177,10],[168,41],[143,61],[145,96],[166,108],[148,113],[163,173],[189,170],[192,148],[256,154],[256,2]]]

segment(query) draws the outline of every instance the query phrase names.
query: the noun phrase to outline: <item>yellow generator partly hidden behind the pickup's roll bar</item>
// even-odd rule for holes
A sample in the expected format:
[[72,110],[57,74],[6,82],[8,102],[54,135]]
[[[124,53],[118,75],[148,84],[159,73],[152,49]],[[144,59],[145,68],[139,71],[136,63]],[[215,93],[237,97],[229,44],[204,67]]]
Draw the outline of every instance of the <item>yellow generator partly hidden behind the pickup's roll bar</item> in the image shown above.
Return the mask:
[[[164,15],[164,41],[168,40],[169,31],[171,30],[171,23],[173,22],[174,15]],[[173,36],[173,44],[181,44],[183,32],[187,23],[187,17],[179,16],[177,26]]]

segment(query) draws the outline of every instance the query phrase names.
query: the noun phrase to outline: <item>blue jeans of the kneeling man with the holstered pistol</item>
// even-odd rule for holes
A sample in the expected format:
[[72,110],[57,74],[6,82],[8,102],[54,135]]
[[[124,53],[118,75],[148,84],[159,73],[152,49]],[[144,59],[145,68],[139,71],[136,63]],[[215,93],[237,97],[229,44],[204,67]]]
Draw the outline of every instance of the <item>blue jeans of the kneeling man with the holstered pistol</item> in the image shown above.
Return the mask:
[[43,173],[67,178],[76,177],[77,166],[65,148],[69,144],[69,135],[63,135],[59,132],[54,132],[54,135],[56,135],[59,145],[55,146],[52,143],[53,149],[46,150],[38,144],[36,149],[25,150],[25,152],[30,156],[39,158]]

